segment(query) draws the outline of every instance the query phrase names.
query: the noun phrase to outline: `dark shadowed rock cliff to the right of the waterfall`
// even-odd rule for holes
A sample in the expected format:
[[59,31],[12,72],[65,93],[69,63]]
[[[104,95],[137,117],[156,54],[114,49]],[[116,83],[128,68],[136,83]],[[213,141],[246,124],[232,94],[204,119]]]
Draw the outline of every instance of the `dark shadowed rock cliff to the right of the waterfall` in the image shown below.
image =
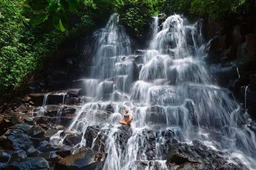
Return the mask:
[[229,88],[242,105],[245,98],[241,92],[249,86],[247,112],[255,118],[256,100],[250,95],[255,92],[256,32],[251,27],[255,23],[246,17],[229,17],[225,24],[203,17],[203,32],[211,39],[205,49],[208,53],[206,61],[212,65],[211,71],[218,78],[219,85]]

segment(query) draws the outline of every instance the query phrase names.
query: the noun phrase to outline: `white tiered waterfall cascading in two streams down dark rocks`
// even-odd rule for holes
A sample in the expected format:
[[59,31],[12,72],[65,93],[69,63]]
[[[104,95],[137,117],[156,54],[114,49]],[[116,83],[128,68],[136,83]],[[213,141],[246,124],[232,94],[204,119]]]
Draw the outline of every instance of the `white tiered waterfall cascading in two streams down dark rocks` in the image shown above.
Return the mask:
[[[84,80],[86,100],[69,129],[84,133],[88,126],[101,127],[96,138],[106,139],[108,153],[103,169],[135,170],[141,162],[145,169],[167,169],[163,130],[172,131],[179,142],[200,140],[241,159],[249,169],[256,168],[255,137],[244,126],[248,116],[209,73],[200,25],[175,14],[158,31],[155,17],[150,47],[140,56],[132,55],[130,37],[118,25],[118,15],[111,15],[106,27],[95,32],[96,52]],[[114,113],[99,116],[110,105]],[[123,148],[116,132],[125,109],[134,119]],[[157,136],[154,156],[147,151],[151,133]],[[95,148],[95,139],[91,148],[101,150]],[[83,139],[80,146],[85,145]]]

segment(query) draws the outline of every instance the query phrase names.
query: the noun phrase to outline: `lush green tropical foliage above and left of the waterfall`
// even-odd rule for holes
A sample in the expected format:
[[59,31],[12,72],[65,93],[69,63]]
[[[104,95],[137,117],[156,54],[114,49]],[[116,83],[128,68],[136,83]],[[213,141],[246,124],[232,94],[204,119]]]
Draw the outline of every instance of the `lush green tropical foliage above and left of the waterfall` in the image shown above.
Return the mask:
[[0,0],[0,94],[19,89],[60,43],[100,27],[113,12],[140,36],[160,12],[223,17],[250,3],[255,0]]

